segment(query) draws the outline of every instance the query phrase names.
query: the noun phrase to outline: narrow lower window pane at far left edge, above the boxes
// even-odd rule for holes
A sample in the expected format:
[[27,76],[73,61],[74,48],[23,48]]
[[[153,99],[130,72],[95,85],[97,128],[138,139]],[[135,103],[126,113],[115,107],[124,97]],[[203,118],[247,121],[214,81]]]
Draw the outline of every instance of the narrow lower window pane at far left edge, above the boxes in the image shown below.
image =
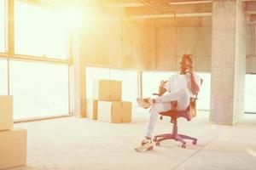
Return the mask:
[[7,60],[0,59],[0,95],[8,94]]

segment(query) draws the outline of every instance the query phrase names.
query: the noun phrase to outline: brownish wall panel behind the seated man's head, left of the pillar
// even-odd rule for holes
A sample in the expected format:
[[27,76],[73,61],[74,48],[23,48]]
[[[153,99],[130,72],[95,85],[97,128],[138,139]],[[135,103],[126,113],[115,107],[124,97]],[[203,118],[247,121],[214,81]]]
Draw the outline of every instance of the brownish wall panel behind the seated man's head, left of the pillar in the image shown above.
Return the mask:
[[212,28],[209,26],[158,28],[156,43],[157,70],[176,71],[184,53],[195,55],[196,70],[211,70]]

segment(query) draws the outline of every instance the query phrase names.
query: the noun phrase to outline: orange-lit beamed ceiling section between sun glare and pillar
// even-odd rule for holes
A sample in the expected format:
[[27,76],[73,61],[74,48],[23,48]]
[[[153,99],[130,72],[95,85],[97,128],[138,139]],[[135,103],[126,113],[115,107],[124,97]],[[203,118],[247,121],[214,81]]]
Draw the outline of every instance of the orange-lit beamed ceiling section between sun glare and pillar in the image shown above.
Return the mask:
[[125,8],[131,18],[211,16],[212,0],[102,0],[108,8]]

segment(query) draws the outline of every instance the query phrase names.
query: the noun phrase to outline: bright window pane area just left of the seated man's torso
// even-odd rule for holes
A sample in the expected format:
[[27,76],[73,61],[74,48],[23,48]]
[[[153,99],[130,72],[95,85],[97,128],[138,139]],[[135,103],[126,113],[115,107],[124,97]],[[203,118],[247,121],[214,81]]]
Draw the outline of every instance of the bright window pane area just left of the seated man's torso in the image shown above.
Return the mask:
[[166,81],[175,73],[177,72],[143,72],[143,98],[152,97],[152,94],[158,93],[161,80]]

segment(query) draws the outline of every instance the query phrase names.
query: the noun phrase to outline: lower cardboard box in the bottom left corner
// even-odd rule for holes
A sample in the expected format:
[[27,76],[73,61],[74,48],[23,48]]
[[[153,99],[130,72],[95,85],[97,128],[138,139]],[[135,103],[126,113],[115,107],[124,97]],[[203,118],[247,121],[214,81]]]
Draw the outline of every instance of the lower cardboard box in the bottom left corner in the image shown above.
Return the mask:
[[0,169],[26,165],[26,130],[0,132]]

